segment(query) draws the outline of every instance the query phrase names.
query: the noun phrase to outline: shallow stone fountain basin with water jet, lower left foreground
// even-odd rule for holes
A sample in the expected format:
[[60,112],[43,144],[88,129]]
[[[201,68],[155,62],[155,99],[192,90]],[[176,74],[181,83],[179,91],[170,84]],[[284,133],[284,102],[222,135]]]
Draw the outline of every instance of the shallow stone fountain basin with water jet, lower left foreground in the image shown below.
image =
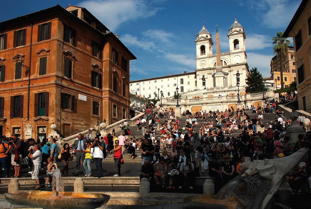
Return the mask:
[[93,209],[108,202],[109,195],[95,193],[63,192],[59,197],[54,197],[55,192],[23,191],[17,194],[5,193],[7,202],[13,205],[39,207],[44,209]]

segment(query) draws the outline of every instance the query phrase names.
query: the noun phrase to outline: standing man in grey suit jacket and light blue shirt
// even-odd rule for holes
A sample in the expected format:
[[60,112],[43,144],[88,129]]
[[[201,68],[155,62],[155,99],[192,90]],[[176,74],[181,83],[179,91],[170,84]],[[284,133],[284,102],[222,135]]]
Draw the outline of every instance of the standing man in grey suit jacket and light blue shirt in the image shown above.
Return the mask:
[[[80,171],[81,162],[83,164],[84,158],[85,158],[85,152],[83,152],[83,150],[86,150],[85,140],[83,140],[82,134],[78,135],[78,138],[73,143],[72,148],[76,153],[76,159],[77,159],[76,173],[73,175],[78,176],[79,171]],[[83,166],[82,166],[82,169],[84,169]],[[85,171],[83,171],[83,172],[85,173]]]

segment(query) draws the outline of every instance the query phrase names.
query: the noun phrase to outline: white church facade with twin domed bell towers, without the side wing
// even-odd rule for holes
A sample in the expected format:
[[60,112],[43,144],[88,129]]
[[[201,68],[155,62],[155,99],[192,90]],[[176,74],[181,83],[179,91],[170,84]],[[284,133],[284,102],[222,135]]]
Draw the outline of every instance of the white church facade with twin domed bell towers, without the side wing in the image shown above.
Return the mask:
[[[197,88],[218,88],[236,86],[239,82],[241,94],[244,94],[248,77],[248,64],[245,52],[244,28],[234,20],[228,33],[230,51],[220,53],[220,63],[217,63],[217,53],[212,53],[214,45],[210,32],[203,26],[197,34],[197,78],[200,80]],[[217,73],[216,67],[221,66],[221,72]],[[239,76],[237,76],[239,75]]]

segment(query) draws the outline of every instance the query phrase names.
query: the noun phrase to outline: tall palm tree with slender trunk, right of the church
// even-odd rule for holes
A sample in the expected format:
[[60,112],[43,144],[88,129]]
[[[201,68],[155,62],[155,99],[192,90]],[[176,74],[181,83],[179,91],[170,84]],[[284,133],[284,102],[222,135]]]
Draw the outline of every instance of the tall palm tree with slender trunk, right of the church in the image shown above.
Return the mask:
[[272,37],[272,44],[274,44],[273,47],[273,54],[276,54],[278,57],[280,57],[280,77],[281,77],[281,89],[284,88],[284,82],[283,82],[283,58],[282,56],[286,57],[288,55],[288,45],[290,45],[290,41],[286,40],[286,38],[283,37],[283,31],[276,32],[276,36]]

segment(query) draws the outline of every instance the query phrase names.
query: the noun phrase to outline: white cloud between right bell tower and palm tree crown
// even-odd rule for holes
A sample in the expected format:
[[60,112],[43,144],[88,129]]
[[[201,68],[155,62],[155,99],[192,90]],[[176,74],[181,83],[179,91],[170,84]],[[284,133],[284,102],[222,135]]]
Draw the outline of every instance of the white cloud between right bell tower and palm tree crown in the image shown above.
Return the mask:
[[251,33],[245,39],[246,50],[260,50],[273,47],[271,38],[268,35]]

